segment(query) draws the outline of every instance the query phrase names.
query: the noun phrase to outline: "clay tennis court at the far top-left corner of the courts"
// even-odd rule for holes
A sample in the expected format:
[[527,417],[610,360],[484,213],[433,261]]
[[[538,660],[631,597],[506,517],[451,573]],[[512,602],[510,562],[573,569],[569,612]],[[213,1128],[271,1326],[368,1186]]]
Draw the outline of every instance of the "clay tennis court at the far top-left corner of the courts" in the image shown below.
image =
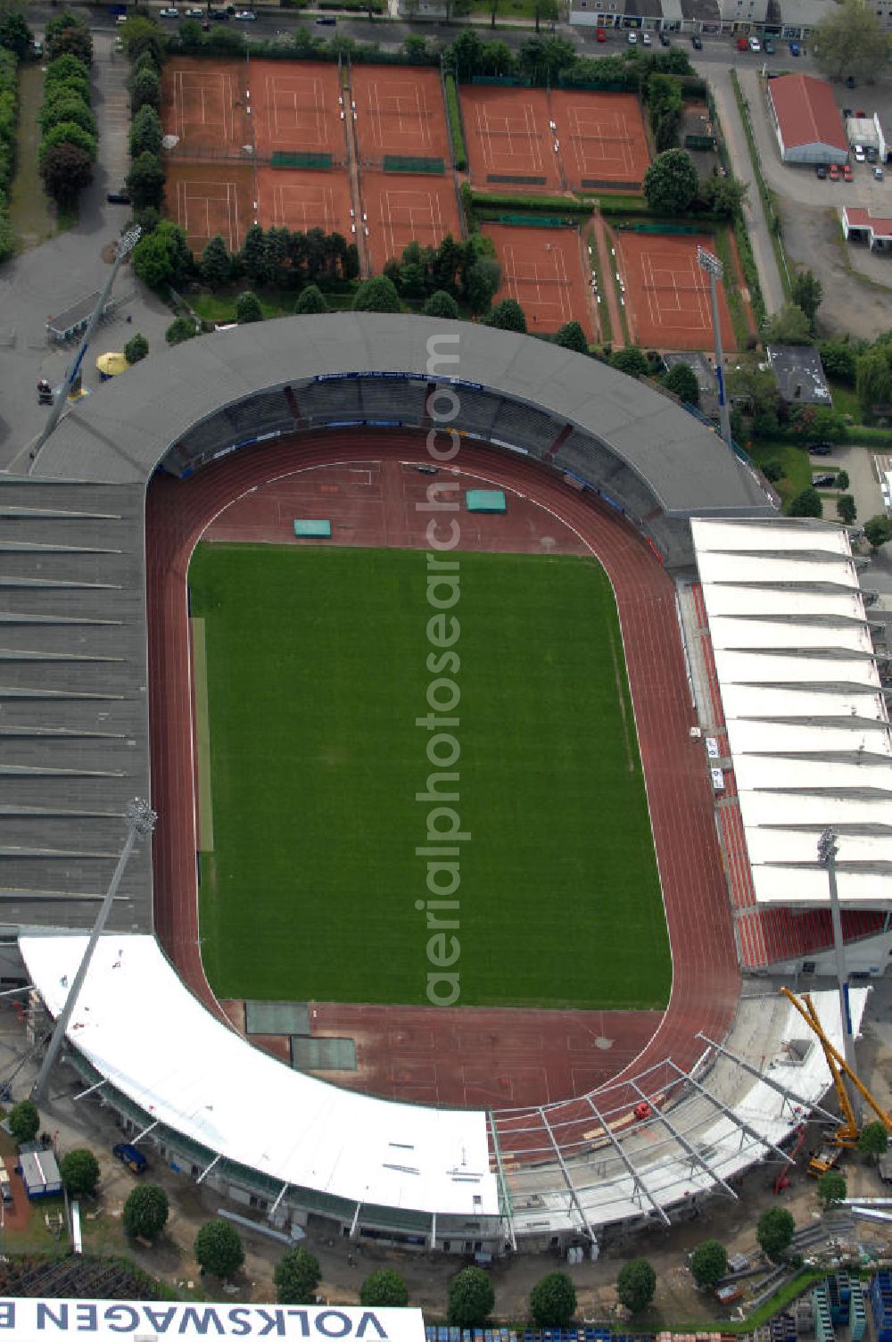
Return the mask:
[[174,56],[161,78],[161,127],[176,153],[237,158],[251,144],[245,63]]

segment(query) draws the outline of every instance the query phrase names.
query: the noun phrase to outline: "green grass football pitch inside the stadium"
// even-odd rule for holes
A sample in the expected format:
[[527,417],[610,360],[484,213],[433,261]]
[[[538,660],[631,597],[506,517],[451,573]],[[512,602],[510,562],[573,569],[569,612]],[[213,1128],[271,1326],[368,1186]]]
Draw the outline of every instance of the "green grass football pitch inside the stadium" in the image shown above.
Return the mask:
[[[428,1004],[427,560],[216,544],[192,560],[201,939],[223,997]],[[585,558],[457,560],[459,1005],[663,1008],[669,946],[606,576]]]

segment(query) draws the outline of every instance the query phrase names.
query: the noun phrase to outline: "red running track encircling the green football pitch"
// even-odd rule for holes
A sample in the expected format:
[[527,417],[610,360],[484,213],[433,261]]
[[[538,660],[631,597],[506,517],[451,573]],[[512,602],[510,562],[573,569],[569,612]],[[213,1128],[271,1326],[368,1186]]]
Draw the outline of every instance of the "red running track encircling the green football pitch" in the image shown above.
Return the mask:
[[[349,544],[425,548],[427,517],[416,513],[406,487],[400,491],[398,484],[405,479],[400,462],[425,459],[424,439],[417,433],[302,435],[232,454],[190,480],[161,476],[149,491],[149,690],[153,801],[160,816],[154,837],[156,929],[186,985],[223,1020],[227,1016],[204,976],[199,941],[185,595],[189,557],[211,523],[215,535],[235,534],[240,507],[245,523],[249,517],[256,522],[264,486],[287,487],[283,476],[334,462],[364,467],[381,491],[377,514],[366,503],[353,506],[350,515],[359,514],[362,525]],[[551,1150],[539,1106],[546,1106],[558,1139],[569,1146],[590,1138],[598,1126],[589,1102],[571,1096],[593,1091],[598,1114],[610,1113],[621,1122],[640,1098],[625,1084],[633,1075],[649,1068],[643,1088],[665,1092],[677,1074],[660,1066],[664,1059],[687,1068],[703,1052],[695,1039],[698,1029],[712,1039],[727,1032],[736,1009],[739,973],[712,793],[702,752],[689,739],[693,711],[671,580],[622,518],[555,475],[467,442],[460,462],[464,472],[522,495],[510,506],[510,534],[506,518],[492,519],[499,533],[482,529],[465,537],[463,530],[463,545],[469,539],[482,549],[538,550],[545,530],[550,544],[565,553],[578,553],[582,542],[597,554],[613,584],[672,945],[672,1000],[663,1016],[314,1004],[313,1028],[319,1035],[357,1040],[359,1070],[337,1076],[339,1083],[402,1099],[492,1108],[503,1150],[519,1155]],[[322,472],[319,479],[334,476]],[[423,487],[417,475],[412,479],[416,488]],[[270,486],[271,480],[276,483]],[[318,487],[331,494],[338,488]],[[244,498],[247,491],[256,491],[251,501]],[[241,505],[229,511],[228,505],[239,498]],[[337,507],[333,498],[329,515],[334,517]],[[291,507],[283,511],[290,527],[298,514]]]

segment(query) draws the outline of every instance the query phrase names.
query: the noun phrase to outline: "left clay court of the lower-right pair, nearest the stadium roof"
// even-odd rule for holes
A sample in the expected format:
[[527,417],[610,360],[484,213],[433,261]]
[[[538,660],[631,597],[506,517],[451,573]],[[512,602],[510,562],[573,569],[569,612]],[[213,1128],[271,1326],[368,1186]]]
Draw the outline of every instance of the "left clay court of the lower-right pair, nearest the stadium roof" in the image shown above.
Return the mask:
[[592,302],[582,268],[575,228],[512,228],[483,224],[495,243],[502,285],[495,302],[516,298],[531,333],[557,331],[565,322],[578,322],[594,338]]

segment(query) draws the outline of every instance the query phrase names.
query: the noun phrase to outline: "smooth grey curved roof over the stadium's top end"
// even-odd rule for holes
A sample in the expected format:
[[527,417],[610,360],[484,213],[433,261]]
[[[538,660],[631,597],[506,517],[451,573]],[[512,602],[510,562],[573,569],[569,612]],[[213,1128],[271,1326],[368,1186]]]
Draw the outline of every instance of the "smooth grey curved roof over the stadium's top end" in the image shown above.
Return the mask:
[[[757,480],[722,440],[643,382],[511,331],[376,313],[258,322],[154,354],[72,409],[40,452],[36,471],[142,480],[188,425],[221,405],[318,374],[425,377],[429,344],[437,340],[441,380],[480,384],[594,435],[644,476],[664,511],[766,510]],[[447,362],[456,352],[457,362]]]

